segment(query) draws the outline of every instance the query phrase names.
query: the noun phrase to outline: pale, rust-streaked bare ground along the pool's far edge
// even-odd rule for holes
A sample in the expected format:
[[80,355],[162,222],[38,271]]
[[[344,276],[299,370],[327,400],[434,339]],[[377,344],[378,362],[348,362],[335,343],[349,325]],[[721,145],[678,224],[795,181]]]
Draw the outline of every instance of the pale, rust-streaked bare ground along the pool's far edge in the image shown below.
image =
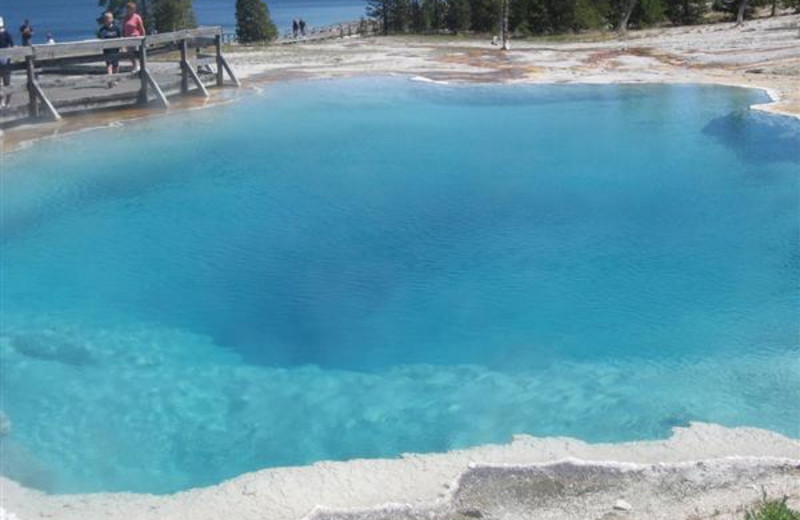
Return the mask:
[[[599,42],[520,40],[508,53],[485,39],[437,37],[344,38],[296,46],[234,50],[231,65],[243,92],[225,90],[209,100],[184,99],[168,111],[131,108],[98,111],[61,123],[0,130],[0,152],[77,131],[162,117],[233,102],[271,83],[358,76],[404,76],[448,84],[700,84],[753,88],[770,101],[751,110],[800,120],[800,15],[731,24],[647,29]],[[770,40],[755,44],[756,36]],[[710,46],[708,50],[698,49]],[[716,47],[715,47],[716,46]]]

